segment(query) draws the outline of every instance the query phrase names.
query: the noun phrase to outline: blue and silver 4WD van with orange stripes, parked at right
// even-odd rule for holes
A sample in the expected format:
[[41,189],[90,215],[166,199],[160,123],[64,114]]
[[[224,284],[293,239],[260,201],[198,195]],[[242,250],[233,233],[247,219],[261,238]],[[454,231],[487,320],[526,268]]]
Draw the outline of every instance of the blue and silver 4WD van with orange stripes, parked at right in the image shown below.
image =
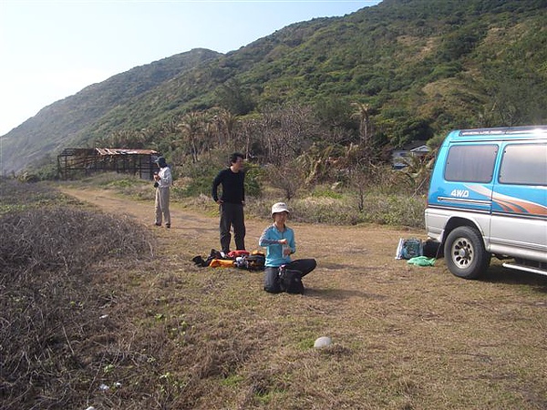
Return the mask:
[[450,132],[425,217],[428,237],[461,278],[479,277],[491,256],[547,275],[547,126]]

